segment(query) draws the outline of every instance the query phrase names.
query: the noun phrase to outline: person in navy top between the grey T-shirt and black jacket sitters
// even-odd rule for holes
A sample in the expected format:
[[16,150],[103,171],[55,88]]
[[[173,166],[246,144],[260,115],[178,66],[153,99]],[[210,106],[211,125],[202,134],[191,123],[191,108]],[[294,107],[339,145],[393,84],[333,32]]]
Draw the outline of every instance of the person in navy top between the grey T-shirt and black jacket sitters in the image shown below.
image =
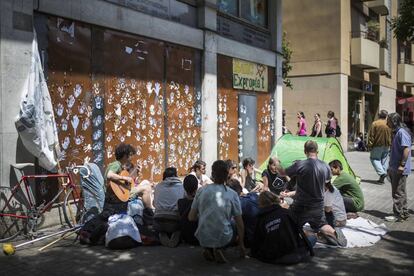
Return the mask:
[[259,213],[259,196],[257,193],[243,194],[243,188],[240,182],[234,178],[227,182],[227,186],[239,195],[244,223],[244,244],[247,248],[250,248],[253,242],[254,229],[256,228],[257,215]]

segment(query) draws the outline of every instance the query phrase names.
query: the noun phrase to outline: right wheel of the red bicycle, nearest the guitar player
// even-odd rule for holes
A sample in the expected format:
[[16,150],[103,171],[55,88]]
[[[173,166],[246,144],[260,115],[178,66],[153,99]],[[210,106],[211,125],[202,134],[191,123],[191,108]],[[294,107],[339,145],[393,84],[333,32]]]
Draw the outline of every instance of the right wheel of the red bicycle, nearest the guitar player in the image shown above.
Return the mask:
[[[88,197],[88,205],[97,206],[96,208],[90,208],[87,210],[83,201],[83,197],[76,197],[76,192],[73,188],[69,189],[65,196],[65,201],[63,203],[63,215],[65,217],[66,223],[69,227],[74,227],[86,222],[90,219],[90,211],[93,211],[93,214],[98,214],[102,211],[98,204],[98,198],[94,194],[90,194]],[[94,209],[94,210],[92,210]]]

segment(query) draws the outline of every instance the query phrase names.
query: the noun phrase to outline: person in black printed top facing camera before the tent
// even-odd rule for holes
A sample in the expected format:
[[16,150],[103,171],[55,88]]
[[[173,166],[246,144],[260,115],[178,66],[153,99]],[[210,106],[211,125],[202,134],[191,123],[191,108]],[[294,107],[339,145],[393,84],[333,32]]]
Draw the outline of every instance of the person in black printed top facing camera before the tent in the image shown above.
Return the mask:
[[280,176],[280,161],[276,157],[270,157],[267,163],[266,170],[262,173],[263,190],[271,191],[272,193],[279,195],[280,192],[286,188],[286,183],[289,182],[289,177]]

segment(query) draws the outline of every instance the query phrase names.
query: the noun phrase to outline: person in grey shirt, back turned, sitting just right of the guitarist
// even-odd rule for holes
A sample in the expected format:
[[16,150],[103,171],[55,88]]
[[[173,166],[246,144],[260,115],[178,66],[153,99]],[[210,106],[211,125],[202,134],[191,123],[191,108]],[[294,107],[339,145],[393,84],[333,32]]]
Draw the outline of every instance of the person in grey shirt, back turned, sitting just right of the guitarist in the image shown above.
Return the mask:
[[185,196],[184,187],[174,167],[166,168],[162,179],[154,190],[154,229],[162,245],[176,247],[180,242],[177,201]]

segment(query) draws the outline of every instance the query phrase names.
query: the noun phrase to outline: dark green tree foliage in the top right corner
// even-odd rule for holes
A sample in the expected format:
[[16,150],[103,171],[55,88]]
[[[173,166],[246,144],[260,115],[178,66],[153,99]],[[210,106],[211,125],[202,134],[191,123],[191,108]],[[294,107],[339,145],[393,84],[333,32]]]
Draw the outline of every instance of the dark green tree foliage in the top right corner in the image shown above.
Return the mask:
[[399,14],[392,20],[394,36],[402,42],[414,43],[414,0],[402,0]]

